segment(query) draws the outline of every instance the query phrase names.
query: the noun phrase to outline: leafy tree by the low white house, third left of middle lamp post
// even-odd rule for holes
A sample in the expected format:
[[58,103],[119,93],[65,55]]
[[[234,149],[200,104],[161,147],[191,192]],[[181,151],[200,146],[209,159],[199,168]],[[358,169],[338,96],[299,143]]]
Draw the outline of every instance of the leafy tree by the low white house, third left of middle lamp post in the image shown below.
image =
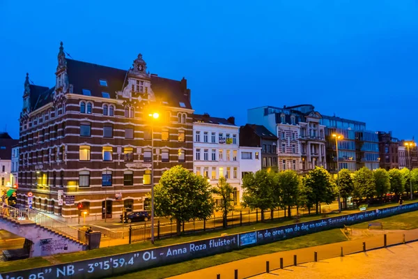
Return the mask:
[[277,207],[277,197],[274,197],[274,189],[277,186],[277,176],[265,169],[258,170],[255,174],[247,174],[242,179],[242,203],[252,209],[261,210],[261,220],[264,220],[264,211]]

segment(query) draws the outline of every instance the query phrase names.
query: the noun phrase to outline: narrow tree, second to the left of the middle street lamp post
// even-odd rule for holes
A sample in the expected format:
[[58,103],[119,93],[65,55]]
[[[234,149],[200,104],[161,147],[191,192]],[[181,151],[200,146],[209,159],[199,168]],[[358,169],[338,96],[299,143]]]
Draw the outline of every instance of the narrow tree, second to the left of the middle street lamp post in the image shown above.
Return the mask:
[[287,206],[288,217],[291,217],[292,206],[298,205],[300,178],[294,170],[286,170],[277,174],[277,182],[281,193],[281,205]]

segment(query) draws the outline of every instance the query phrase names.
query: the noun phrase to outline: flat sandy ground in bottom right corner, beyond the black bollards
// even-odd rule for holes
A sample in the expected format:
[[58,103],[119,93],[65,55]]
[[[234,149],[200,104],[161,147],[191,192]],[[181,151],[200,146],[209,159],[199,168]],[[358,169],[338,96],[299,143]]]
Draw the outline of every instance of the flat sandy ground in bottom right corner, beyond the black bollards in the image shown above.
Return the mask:
[[418,278],[418,243],[289,266],[252,278]]

